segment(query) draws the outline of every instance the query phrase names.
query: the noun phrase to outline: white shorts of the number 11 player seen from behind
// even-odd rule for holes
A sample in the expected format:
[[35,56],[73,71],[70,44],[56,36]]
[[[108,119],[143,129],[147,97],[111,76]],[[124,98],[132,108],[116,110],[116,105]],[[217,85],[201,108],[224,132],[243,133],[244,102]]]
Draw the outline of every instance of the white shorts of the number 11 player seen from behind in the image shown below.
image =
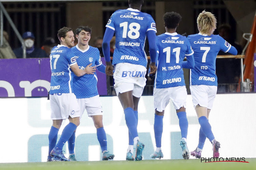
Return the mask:
[[158,112],[165,110],[170,99],[172,99],[174,108],[176,110],[181,107],[186,108],[187,89],[186,86],[177,86],[169,88],[154,88],[154,108]]

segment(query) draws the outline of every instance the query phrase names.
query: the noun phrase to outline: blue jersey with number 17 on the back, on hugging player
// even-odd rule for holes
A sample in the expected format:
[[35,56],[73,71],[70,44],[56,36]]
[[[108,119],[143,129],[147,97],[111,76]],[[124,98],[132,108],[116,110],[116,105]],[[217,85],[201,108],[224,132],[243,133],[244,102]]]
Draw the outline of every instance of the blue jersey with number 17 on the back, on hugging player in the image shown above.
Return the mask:
[[75,54],[64,45],[55,46],[50,55],[52,70],[50,94],[72,93],[70,66],[76,64]]

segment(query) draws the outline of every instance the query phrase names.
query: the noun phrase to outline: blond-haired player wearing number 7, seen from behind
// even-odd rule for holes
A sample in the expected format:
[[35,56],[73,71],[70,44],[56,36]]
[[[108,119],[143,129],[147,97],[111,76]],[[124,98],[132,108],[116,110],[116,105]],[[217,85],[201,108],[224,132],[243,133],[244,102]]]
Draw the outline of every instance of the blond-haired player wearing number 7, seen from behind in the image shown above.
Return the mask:
[[191,155],[200,158],[206,137],[213,145],[213,157],[219,157],[220,143],[215,140],[208,121],[209,113],[217,93],[215,74],[216,57],[220,50],[237,55],[237,50],[219,35],[213,35],[217,20],[210,12],[202,11],[197,17],[198,34],[189,35],[194,50],[195,68],[190,70],[190,91],[198,121],[201,126],[199,143]]

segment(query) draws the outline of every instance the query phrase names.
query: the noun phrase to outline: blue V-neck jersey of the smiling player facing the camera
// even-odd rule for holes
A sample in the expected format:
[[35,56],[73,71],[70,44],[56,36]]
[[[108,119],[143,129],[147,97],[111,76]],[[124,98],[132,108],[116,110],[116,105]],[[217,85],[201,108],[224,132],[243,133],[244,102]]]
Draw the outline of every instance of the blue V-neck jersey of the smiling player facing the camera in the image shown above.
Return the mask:
[[[81,50],[77,45],[71,48],[76,56],[76,62],[80,69],[84,70],[86,66],[92,63],[93,66],[100,66],[102,64],[100,58],[100,51],[98,48],[88,46],[86,50]],[[99,95],[97,89],[97,74],[85,74],[77,77],[74,73],[73,77],[73,91],[77,99],[90,98]]]

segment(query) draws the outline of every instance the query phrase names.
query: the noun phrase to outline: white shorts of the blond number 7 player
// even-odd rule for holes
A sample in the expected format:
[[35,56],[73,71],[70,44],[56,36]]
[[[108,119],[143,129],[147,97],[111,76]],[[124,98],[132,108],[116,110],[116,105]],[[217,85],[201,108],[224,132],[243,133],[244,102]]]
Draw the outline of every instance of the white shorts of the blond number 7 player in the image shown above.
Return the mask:
[[217,94],[217,86],[190,85],[193,105],[200,105],[212,109],[212,105]]

